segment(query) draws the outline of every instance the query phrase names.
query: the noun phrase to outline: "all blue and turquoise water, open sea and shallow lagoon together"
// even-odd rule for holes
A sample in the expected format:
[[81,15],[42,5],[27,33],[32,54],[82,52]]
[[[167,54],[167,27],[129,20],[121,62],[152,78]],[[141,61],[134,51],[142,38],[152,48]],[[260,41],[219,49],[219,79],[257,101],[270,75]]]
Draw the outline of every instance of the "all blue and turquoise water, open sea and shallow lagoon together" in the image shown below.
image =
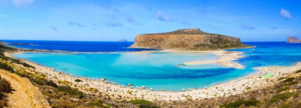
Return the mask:
[[[106,78],[119,85],[146,86],[154,90],[181,91],[189,88],[209,87],[257,72],[254,67],[263,65],[290,66],[301,61],[301,43],[243,42],[254,48],[228,49],[242,51],[247,57],[235,60],[245,65],[243,69],[221,66],[215,63],[175,66],[188,61],[218,59],[212,53],[155,52],[145,54],[116,53],[141,50],[127,48],[133,42],[111,41],[46,41],[2,40],[10,43],[37,45],[11,45],[29,49],[67,50],[71,52],[40,52],[14,54],[56,71],[87,76],[90,79]],[[106,53],[72,53],[106,52]],[[114,52],[114,53],[110,53]]]

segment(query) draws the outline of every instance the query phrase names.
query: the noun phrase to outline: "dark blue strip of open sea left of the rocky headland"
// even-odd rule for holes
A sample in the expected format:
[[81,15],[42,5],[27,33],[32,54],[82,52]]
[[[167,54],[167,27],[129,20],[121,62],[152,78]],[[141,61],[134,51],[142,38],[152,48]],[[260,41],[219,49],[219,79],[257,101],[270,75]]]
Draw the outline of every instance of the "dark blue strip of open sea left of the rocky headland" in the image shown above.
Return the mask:
[[142,48],[126,48],[134,42],[117,41],[54,41],[54,40],[2,40],[9,43],[27,43],[37,45],[10,45],[29,49],[68,50],[77,52],[115,52],[154,50]]

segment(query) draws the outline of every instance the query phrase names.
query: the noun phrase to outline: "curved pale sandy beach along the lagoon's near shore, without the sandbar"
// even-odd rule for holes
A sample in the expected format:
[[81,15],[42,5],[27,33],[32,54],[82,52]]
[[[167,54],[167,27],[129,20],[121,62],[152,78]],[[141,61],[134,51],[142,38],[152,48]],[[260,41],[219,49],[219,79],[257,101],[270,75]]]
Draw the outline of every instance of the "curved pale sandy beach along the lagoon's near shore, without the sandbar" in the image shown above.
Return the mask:
[[[17,52],[20,53],[20,52]],[[14,53],[5,53],[6,56],[11,56]],[[16,58],[16,57],[14,57]],[[20,59],[20,58],[17,58]],[[243,86],[243,83],[245,82],[256,82],[253,85],[249,85],[248,87],[252,87],[251,89],[256,89],[256,87],[261,86],[264,87],[265,84],[262,84],[259,80],[264,80],[265,78],[258,78],[261,74],[257,71],[255,73],[251,73],[249,75],[246,75],[244,77],[236,78],[233,80],[229,80],[227,82],[221,82],[213,87],[209,87],[208,89],[202,88],[202,89],[185,89],[185,91],[154,91],[154,90],[149,90],[149,88],[145,89],[136,89],[136,88],[129,88],[129,87],[123,87],[122,85],[117,85],[117,84],[112,84],[112,83],[105,83],[100,80],[91,80],[91,79],[86,79],[86,78],[80,78],[80,77],[73,77],[70,74],[65,74],[57,71],[53,71],[51,67],[47,66],[42,66],[34,62],[27,61],[25,59],[21,59],[22,61],[29,63],[33,66],[36,67],[36,71],[43,72],[47,75],[49,79],[54,80],[57,82],[58,80],[67,80],[72,82],[73,84],[77,84],[78,86],[86,86],[88,84],[89,86],[86,87],[94,87],[98,88],[100,92],[104,92],[107,94],[115,94],[115,95],[122,95],[126,96],[128,98],[140,98],[140,95],[144,95],[144,99],[147,100],[185,100],[187,99],[187,95],[192,96],[192,98],[197,99],[197,98],[207,98],[207,97],[218,97],[218,96],[229,96],[233,94],[239,94],[245,92],[246,86]],[[289,73],[289,71],[284,70],[288,69],[291,67],[298,67],[300,68],[301,63],[296,63],[294,66],[290,67],[283,67],[281,71],[283,73]],[[256,67],[260,68],[260,67]],[[268,67],[271,68],[271,67]],[[291,69],[290,69],[291,70]],[[269,73],[272,73],[268,69]],[[282,72],[281,72],[282,73]],[[272,78],[275,78],[278,74],[275,74],[272,76]],[[84,82],[75,82],[74,79],[81,79],[84,80]],[[257,83],[258,81],[258,83]],[[270,83],[272,84],[272,83]],[[267,85],[266,85],[267,86]],[[73,86],[72,86],[73,87]],[[147,87],[147,86],[146,86]],[[217,87],[217,88],[216,88]],[[236,89],[235,92],[227,92],[231,91],[232,89]],[[249,89],[249,90],[251,90]],[[84,92],[89,92],[87,90],[84,90],[83,88],[79,87],[79,90],[84,91]],[[131,94],[127,93],[126,91],[132,91]],[[115,92],[116,91],[116,92]],[[154,96],[156,95],[156,96]],[[183,96],[184,95],[184,96]]]

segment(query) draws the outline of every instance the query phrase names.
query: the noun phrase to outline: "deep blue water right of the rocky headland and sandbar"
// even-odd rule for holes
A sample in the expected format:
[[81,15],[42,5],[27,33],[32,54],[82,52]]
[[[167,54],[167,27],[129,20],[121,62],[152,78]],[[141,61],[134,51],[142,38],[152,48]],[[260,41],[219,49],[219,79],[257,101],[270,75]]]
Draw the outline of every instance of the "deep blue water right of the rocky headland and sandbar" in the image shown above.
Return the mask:
[[249,67],[262,65],[293,65],[301,61],[301,43],[280,42],[244,42],[255,48],[229,49],[242,51],[248,57],[236,60]]

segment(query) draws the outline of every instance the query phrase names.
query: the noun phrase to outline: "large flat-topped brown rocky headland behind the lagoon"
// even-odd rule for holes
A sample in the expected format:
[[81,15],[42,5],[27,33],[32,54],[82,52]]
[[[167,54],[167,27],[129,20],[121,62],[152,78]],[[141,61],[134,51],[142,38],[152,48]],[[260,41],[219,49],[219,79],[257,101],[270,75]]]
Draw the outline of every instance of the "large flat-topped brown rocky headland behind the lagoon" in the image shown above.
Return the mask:
[[251,47],[239,38],[203,32],[198,28],[178,29],[172,32],[137,35],[130,47],[175,50],[216,50]]

